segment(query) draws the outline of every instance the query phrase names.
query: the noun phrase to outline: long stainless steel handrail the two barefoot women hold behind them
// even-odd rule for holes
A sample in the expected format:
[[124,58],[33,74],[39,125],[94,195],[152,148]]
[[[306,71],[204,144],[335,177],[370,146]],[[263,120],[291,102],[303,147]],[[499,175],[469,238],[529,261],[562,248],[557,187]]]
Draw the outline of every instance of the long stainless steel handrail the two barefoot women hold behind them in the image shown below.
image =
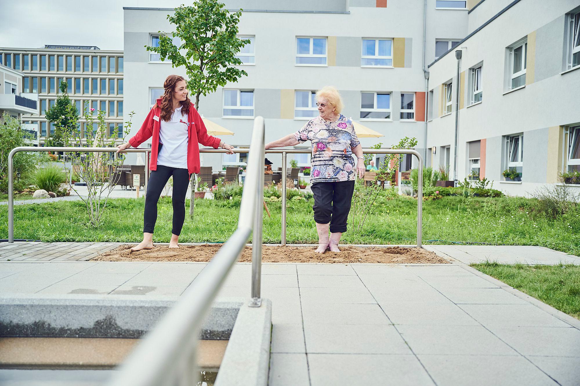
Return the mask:
[[[13,177],[12,177],[12,157],[18,151],[79,151],[81,148],[65,147],[17,147],[14,148],[8,156],[8,242],[14,242],[14,197],[13,197]],[[115,148],[82,148],[82,151],[99,151],[113,152]],[[150,149],[127,149],[126,152],[145,152],[146,165],[149,164]],[[224,153],[226,150],[221,149],[200,149],[201,153]],[[235,153],[248,153],[248,149],[234,149]],[[363,149],[364,154],[412,154],[417,157],[419,162],[419,184],[418,184],[418,202],[417,202],[417,246],[422,246],[422,224],[423,224],[423,157],[415,150],[393,150],[393,149]],[[287,173],[287,155],[288,154],[311,154],[309,149],[270,149],[265,153],[282,154],[282,181],[286,181]],[[145,168],[145,190],[147,191],[148,167]],[[263,176],[262,176],[263,179]],[[282,184],[282,229],[281,243],[286,245],[286,184]],[[262,237],[262,235],[260,235]],[[252,257],[253,258],[253,257]]]

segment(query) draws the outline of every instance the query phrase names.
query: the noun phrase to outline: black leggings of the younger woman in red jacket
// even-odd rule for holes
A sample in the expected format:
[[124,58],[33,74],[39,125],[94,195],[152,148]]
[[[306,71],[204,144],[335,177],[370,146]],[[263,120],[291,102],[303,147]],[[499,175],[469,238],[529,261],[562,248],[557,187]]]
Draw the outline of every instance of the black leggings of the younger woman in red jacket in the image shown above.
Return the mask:
[[187,169],[179,167],[169,167],[157,165],[157,170],[151,170],[149,181],[147,183],[147,195],[145,198],[145,213],[143,221],[143,232],[153,233],[155,221],[157,221],[157,202],[161,191],[173,176],[173,228],[171,233],[179,236],[185,220],[185,195],[187,185],[189,185],[190,174]]

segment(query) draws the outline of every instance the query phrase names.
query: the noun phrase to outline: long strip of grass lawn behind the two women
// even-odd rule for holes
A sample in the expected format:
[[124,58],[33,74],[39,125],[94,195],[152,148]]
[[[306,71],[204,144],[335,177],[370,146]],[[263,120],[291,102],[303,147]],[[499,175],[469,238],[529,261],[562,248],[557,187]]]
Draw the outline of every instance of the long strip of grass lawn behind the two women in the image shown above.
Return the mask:
[[[314,201],[288,201],[287,242],[316,243]],[[144,199],[110,199],[101,223],[88,224],[82,201],[18,205],[14,207],[14,238],[42,241],[136,242],[143,237]],[[281,203],[264,212],[264,242],[280,243]],[[189,207],[189,200],[186,202]],[[186,215],[180,241],[224,242],[235,230],[240,210],[237,201],[200,199],[194,219]],[[417,201],[408,196],[379,197],[361,231],[349,228],[344,243],[413,244],[416,242]],[[8,207],[0,206],[0,238],[8,238]],[[155,241],[171,236],[172,206],[158,204]],[[541,245],[580,254],[580,211],[552,219],[536,210],[534,199],[462,198],[445,196],[423,203],[423,242],[445,244],[485,242],[494,245]],[[434,240],[429,242],[429,240]]]

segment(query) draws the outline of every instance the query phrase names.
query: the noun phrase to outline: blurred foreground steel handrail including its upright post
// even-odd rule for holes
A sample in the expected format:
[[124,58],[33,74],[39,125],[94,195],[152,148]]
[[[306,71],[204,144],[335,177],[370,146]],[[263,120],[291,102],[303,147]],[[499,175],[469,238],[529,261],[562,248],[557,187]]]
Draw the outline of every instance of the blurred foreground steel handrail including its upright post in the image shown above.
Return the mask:
[[264,119],[254,120],[238,228],[160,322],[143,337],[111,386],[195,385],[201,323],[253,228],[251,307],[259,307],[264,189]]

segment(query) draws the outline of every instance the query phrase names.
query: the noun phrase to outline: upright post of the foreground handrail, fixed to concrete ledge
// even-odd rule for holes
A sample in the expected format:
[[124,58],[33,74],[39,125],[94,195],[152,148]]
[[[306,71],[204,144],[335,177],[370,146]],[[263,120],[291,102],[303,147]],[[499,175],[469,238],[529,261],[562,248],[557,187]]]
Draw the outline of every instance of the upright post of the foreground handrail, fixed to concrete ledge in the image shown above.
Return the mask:
[[[263,121],[258,122],[263,125]],[[254,127],[254,130],[256,128]],[[260,162],[264,160],[264,130],[260,136]],[[256,213],[253,219],[252,232],[252,298],[250,299],[249,307],[260,307],[262,305],[262,297],[260,291],[262,290],[262,223],[264,218],[264,209],[262,207],[264,201],[264,166],[260,167],[258,178],[258,190],[256,191]]]

